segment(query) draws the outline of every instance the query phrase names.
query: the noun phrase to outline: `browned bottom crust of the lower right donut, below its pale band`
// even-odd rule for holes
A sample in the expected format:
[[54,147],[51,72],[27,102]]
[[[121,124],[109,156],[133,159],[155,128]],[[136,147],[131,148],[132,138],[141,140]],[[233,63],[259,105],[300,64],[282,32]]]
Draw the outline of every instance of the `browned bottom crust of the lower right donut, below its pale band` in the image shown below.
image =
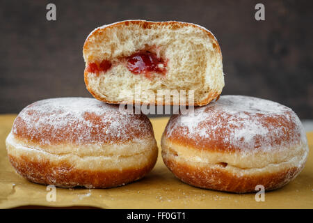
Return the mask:
[[[172,146],[168,146],[164,141],[161,146],[163,161],[177,178],[195,187],[224,192],[255,192],[257,185],[263,185],[266,190],[275,190],[294,179],[305,163],[302,161],[300,167],[286,164],[285,167],[274,171],[270,171],[270,168],[262,171],[260,168],[261,174],[257,173],[258,169],[254,169],[251,173],[246,169],[246,174],[241,174],[240,171],[243,169],[231,168],[226,162],[200,165],[199,162],[184,160],[184,157],[178,160],[177,153],[172,152]],[[232,169],[236,169],[237,172]]]

